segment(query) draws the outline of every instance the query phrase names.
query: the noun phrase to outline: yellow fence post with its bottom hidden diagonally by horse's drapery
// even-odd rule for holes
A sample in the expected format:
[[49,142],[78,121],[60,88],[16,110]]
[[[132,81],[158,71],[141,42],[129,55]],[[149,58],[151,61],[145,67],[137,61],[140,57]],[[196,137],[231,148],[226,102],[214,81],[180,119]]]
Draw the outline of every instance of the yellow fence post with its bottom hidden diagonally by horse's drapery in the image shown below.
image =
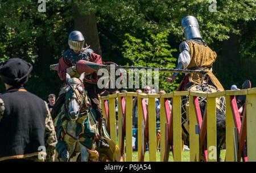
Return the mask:
[[117,129],[115,121],[115,97],[116,95],[109,95],[109,124],[110,124],[110,138],[117,144]]

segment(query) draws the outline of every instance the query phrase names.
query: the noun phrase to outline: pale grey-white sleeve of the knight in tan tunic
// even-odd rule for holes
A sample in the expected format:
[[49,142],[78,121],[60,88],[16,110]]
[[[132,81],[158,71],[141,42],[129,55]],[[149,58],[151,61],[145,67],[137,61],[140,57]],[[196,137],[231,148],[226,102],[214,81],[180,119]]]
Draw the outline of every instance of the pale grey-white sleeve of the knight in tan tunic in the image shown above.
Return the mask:
[[189,49],[189,45],[186,41],[183,41],[180,46],[180,54],[179,54],[179,58],[178,58],[178,64],[179,62],[182,62],[184,69],[186,69],[191,61],[191,57],[190,57],[190,49]]

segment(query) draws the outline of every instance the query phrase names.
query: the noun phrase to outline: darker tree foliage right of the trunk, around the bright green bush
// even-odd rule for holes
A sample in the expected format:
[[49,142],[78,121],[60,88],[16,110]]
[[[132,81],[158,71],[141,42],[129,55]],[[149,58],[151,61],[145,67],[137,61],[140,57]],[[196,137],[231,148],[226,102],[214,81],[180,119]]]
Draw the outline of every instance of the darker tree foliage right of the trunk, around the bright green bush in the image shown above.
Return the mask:
[[[232,64],[236,61],[239,65],[243,63],[243,59],[255,57],[254,11],[256,3],[255,1],[229,0],[216,2],[215,12],[209,11],[214,5],[213,1],[102,2],[103,5],[97,9],[97,20],[101,45],[107,44],[108,47],[108,49],[102,48],[103,55],[105,52],[107,57],[113,58],[112,60],[127,63],[118,56],[113,57],[113,54],[118,54],[120,50],[127,52],[126,49],[129,49],[123,50],[124,47],[122,47],[124,33],[129,33],[145,42],[148,39],[147,31],[155,35],[159,32],[170,32],[168,43],[177,49],[181,41],[185,39],[181,31],[181,19],[184,16],[193,15],[199,21],[203,39],[210,48],[217,52],[215,64],[220,67],[217,68],[218,71],[213,69],[213,73],[220,79],[224,88],[229,89],[234,83],[241,87],[245,79],[250,79],[252,83],[255,83],[256,79],[253,77],[255,73],[245,70],[245,66],[235,67]],[[230,39],[231,35],[238,36],[238,49],[228,51],[237,51],[241,60],[233,61],[230,57],[222,56],[222,42]],[[134,47],[131,49],[134,50]],[[172,55],[177,58],[178,52],[172,52]],[[227,66],[227,63],[230,66]],[[255,65],[255,61],[252,63]]]

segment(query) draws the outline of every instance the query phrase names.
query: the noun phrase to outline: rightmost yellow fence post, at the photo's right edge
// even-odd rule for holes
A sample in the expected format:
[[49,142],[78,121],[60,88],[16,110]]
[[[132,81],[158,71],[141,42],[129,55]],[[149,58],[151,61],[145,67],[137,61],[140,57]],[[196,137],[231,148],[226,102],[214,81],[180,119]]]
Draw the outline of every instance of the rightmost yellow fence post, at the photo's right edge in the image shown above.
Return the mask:
[[247,155],[249,162],[256,161],[256,88],[248,89],[246,96]]

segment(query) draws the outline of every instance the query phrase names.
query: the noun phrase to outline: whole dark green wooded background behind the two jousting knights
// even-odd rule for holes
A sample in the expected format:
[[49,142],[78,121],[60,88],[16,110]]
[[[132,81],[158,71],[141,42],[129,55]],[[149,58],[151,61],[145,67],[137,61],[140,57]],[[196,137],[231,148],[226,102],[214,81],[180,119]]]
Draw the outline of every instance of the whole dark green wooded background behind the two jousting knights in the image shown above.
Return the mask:
[[[20,57],[34,65],[25,87],[44,100],[63,85],[49,65],[68,49],[68,35],[78,29],[85,43],[103,61],[118,65],[175,68],[179,44],[185,40],[181,19],[197,18],[205,42],[217,53],[213,73],[226,90],[243,81],[256,83],[255,0],[0,0],[0,63]],[[174,91],[184,74],[172,84],[160,73],[159,89]],[[5,90],[3,83],[0,92]],[[134,90],[131,90],[134,91]]]

